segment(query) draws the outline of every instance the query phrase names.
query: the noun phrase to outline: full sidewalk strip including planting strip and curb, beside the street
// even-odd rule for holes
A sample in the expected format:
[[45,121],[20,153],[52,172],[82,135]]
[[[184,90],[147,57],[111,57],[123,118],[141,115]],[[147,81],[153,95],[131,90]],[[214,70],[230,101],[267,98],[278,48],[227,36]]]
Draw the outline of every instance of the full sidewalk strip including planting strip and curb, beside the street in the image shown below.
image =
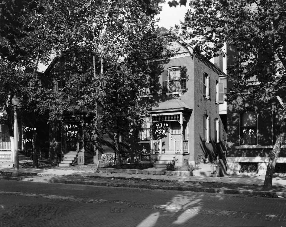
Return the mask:
[[153,174],[132,174],[130,172],[134,172],[134,170],[129,171],[128,169],[124,169],[125,173],[115,173],[112,169],[107,168],[99,168],[97,173],[94,164],[39,169],[20,168],[20,172],[23,173],[21,177],[11,177],[12,171],[14,168],[1,168],[0,179],[286,197],[286,177],[274,177],[273,188],[265,192],[262,188],[264,175],[175,176],[161,175],[161,168],[150,168],[149,172]]

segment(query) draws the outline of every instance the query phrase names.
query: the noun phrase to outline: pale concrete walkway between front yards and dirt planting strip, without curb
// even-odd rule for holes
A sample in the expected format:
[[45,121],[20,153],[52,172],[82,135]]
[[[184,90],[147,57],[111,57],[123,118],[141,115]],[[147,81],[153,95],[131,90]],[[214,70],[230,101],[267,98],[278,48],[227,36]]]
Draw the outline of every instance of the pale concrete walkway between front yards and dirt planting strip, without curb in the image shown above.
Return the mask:
[[[207,176],[182,176],[182,175],[162,175],[162,168],[149,168],[151,174],[138,174],[134,170],[123,169],[124,172],[113,172],[114,169],[99,168],[96,172],[96,165],[77,165],[71,167],[53,167],[53,168],[20,168],[20,172],[24,175],[34,174],[43,177],[54,176],[94,176],[94,177],[123,177],[134,179],[154,179],[154,180],[171,180],[184,182],[214,182],[223,184],[245,184],[245,185],[263,185],[265,175],[227,175],[224,177],[207,177]],[[0,168],[1,172],[12,172],[14,168]],[[118,171],[118,169],[116,170]],[[171,171],[168,171],[170,173]],[[186,171],[187,172],[187,171]],[[286,176],[274,177],[273,186],[285,187],[286,191]]]

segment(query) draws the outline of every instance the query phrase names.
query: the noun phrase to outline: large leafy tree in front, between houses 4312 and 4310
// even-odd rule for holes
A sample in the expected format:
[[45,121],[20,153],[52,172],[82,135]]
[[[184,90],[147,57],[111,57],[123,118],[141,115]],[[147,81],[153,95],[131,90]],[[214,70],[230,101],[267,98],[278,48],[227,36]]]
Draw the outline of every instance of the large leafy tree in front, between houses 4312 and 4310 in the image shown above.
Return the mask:
[[[70,63],[81,73],[70,78],[63,97],[76,98],[72,91],[80,88],[79,110],[97,111],[91,115],[92,124],[85,127],[113,135],[117,167],[121,166],[119,137],[134,132],[141,124],[140,116],[150,108],[149,102],[140,103],[138,97],[150,89],[154,59],[168,55],[168,40],[156,34],[154,15],[161,10],[159,2],[88,0],[69,9],[72,22],[67,31],[72,33],[73,45],[65,53],[73,56]],[[152,11],[146,10],[146,4]],[[68,111],[75,113],[75,109]]]

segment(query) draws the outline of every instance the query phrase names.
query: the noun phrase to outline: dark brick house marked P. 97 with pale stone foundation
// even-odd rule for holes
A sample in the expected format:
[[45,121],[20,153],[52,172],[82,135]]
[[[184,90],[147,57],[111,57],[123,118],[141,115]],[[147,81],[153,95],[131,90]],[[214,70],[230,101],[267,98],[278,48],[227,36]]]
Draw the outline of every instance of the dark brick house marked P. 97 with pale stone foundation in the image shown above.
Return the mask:
[[[227,64],[233,62],[238,52],[227,47]],[[255,78],[249,86],[259,84]],[[236,78],[227,79],[227,89],[236,82]],[[282,100],[285,94],[281,93]],[[233,100],[227,103],[227,172],[265,173],[270,153],[283,119],[278,100],[269,104],[253,100]],[[276,110],[275,110],[276,109]],[[286,171],[286,140],[281,145],[275,172]]]

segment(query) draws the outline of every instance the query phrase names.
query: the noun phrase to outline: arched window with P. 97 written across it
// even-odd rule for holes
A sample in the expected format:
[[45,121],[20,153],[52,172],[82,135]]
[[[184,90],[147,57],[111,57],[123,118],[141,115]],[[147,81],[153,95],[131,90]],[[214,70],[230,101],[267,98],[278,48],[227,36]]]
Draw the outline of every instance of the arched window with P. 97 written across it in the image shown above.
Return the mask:
[[250,108],[240,113],[240,145],[257,145],[257,114]]

